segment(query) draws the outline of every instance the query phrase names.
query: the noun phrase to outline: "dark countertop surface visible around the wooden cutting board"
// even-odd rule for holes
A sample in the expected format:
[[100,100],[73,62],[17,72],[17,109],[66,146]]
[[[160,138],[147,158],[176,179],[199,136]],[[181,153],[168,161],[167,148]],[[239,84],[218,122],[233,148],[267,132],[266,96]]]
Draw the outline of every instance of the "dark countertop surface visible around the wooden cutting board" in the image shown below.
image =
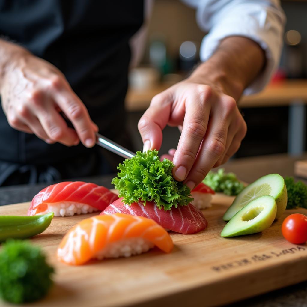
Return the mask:
[[[282,176],[293,176],[294,161],[303,159],[307,159],[307,155],[301,157],[289,157],[286,154],[282,154],[233,160],[228,162],[223,167],[227,172],[235,172],[242,181],[252,182],[268,173],[279,173]],[[98,185],[112,188],[111,180],[113,177],[114,175],[87,177],[74,179],[74,181],[80,180],[94,182]],[[45,187],[46,184],[2,187],[0,188],[0,206],[31,201],[33,196]],[[222,289],[222,291],[223,290],[225,289]],[[244,291],[244,289],[242,289],[242,291]],[[307,281],[262,294],[257,297],[252,297],[228,306],[307,307]]]

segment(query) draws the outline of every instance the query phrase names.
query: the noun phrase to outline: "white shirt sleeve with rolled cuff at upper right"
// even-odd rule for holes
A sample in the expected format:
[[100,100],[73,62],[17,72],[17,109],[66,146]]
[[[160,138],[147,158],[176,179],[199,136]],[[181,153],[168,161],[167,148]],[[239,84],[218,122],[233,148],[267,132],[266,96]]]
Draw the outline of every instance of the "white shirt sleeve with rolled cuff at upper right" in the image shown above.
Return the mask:
[[278,68],[285,15],[278,0],[182,0],[195,7],[196,20],[209,31],[200,47],[200,59],[208,60],[228,36],[244,36],[257,42],[266,54],[266,67],[244,91],[261,91]]

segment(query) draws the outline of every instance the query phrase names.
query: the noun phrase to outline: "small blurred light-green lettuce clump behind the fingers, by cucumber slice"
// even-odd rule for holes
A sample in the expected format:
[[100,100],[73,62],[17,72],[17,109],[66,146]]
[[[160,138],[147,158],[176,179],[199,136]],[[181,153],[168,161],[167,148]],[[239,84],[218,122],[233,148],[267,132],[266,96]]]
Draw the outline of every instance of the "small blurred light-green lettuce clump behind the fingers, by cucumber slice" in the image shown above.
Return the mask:
[[238,195],[244,188],[234,173],[224,173],[224,169],[219,169],[216,173],[210,171],[203,180],[215,192],[222,192],[226,195]]

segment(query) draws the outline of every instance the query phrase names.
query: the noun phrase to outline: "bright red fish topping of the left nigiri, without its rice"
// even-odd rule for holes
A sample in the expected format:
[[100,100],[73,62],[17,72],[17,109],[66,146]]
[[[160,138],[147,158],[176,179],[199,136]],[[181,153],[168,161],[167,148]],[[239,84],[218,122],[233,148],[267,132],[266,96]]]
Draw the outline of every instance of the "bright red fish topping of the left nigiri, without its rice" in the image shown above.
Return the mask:
[[28,215],[44,212],[48,204],[64,202],[87,204],[102,211],[116,199],[118,196],[103,186],[83,181],[64,181],[49,185],[36,194]]

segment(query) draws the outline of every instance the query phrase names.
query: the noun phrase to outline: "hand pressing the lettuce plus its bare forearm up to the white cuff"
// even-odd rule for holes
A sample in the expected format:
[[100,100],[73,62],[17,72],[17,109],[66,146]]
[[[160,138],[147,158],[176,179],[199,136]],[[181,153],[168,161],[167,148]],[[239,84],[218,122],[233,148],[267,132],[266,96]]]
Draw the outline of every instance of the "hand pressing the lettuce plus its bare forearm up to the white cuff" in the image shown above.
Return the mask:
[[153,97],[138,123],[143,150],[160,149],[166,125],[182,129],[170,152],[173,176],[191,189],[239,149],[247,126],[236,100],[264,63],[262,49],[247,38],[229,37],[221,46],[188,79]]

